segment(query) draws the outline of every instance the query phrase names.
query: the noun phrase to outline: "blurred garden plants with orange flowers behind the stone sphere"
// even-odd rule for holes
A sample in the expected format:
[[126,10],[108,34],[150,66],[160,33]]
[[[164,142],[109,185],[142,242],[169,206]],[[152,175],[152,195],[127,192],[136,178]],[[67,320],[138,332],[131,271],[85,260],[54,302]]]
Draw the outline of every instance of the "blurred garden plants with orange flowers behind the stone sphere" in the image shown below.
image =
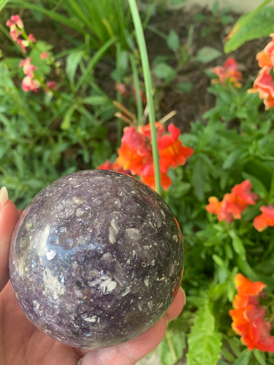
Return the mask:
[[[268,2],[233,25],[227,52],[274,32]],[[184,237],[188,297],[159,345],[161,362],[274,364],[273,40],[252,50],[259,66],[250,74],[234,53],[213,45],[196,49],[194,23],[186,42],[171,25],[159,30],[153,14],[170,15],[162,1],[138,5],[142,26],[135,29],[122,0],[0,1],[7,45],[0,62],[0,186],[20,208],[79,169],[122,169],[155,187],[147,124],[153,94],[161,195]],[[215,3],[210,16],[196,22],[205,32],[212,26],[211,34],[220,22],[230,24],[230,15]],[[54,30],[53,40],[35,31],[42,26]],[[143,29],[170,51],[159,49],[150,59],[152,90],[135,41]],[[194,89],[178,77],[190,65],[206,75],[205,93],[214,103],[186,131],[173,123],[176,111],[160,108],[160,95],[173,87],[182,98]]]

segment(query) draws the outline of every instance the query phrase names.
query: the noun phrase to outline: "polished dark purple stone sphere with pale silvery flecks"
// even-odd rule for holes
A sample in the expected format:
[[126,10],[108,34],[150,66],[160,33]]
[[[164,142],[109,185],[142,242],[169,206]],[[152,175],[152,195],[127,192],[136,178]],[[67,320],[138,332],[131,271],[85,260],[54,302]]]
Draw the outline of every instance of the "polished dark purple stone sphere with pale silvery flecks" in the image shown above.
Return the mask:
[[24,210],[10,248],[10,279],[27,318],[78,348],[130,340],[169,308],[183,248],[154,190],[108,170],[43,189]]

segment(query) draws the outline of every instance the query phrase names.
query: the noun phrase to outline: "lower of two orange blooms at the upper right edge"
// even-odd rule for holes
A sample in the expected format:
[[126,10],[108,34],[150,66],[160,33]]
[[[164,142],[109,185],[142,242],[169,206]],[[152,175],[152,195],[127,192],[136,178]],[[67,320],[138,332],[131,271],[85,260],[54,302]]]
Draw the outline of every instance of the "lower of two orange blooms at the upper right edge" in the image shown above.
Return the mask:
[[253,83],[253,88],[248,93],[258,92],[259,98],[263,99],[265,110],[274,107],[274,83],[270,74],[271,67],[264,66]]

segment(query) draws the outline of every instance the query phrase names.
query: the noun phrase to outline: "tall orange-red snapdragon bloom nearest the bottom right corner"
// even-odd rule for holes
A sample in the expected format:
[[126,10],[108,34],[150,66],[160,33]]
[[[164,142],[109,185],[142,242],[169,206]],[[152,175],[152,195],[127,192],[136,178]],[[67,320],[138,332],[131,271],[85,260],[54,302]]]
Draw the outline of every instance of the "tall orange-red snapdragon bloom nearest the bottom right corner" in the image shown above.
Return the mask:
[[238,294],[234,296],[231,327],[241,335],[242,342],[249,350],[274,352],[274,337],[270,336],[271,323],[265,321],[266,311],[259,305],[259,297],[266,285],[261,281],[252,282],[242,274],[234,278]]

